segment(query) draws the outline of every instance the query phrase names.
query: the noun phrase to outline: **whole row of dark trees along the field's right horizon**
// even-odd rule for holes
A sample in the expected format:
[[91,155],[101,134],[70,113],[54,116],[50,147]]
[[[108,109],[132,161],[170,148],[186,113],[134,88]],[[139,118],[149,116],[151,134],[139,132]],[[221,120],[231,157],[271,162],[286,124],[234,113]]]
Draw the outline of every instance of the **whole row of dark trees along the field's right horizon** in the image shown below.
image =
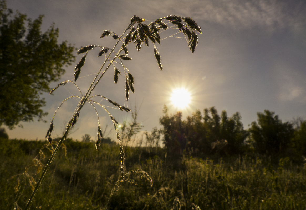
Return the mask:
[[306,156],[306,121],[302,118],[282,122],[278,115],[269,110],[257,112],[257,121],[244,129],[241,114],[231,117],[215,107],[205,108],[203,115],[196,110],[185,120],[182,113],[169,114],[166,106],[159,118],[163,144],[167,153],[179,155],[201,154],[286,154]]

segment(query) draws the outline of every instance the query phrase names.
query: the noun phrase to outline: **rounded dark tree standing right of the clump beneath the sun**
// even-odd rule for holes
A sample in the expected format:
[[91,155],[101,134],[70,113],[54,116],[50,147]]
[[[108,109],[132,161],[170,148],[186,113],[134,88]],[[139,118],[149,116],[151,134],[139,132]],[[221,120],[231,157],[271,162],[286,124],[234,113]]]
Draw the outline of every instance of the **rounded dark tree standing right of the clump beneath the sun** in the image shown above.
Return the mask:
[[252,122],[249,132],[255,150],[259,153],[279,153],[289,146],[294,134],[292,124],[282,123],[274,112],[264,110],[257,113],[257,121]]

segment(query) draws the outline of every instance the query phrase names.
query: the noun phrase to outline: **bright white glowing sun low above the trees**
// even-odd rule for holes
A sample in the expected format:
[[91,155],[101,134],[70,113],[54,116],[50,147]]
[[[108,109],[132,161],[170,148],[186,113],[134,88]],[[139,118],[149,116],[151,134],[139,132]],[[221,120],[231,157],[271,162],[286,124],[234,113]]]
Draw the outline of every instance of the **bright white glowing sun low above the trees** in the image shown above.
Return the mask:
[[179,109],[187,108],[190,103],[190,92],[185,88],[176,88],[171,93],[171,102]]

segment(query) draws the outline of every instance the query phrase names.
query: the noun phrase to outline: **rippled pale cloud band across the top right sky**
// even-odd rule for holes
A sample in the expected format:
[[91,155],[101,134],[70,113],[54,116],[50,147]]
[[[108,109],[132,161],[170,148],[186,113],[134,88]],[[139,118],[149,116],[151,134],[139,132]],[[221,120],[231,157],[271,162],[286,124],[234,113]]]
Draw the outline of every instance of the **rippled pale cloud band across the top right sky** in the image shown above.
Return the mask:
[[268,31],[285,27],[301,31],[306,24],[306,4],[303,1],[195,0],[168,3],[164,5],[163,10],[169,11],[167,7],[173,5],[176,5],[173,10],[183,16],[192,14],[195,20],[205,20],[235,29],[259,26],[267,28]]

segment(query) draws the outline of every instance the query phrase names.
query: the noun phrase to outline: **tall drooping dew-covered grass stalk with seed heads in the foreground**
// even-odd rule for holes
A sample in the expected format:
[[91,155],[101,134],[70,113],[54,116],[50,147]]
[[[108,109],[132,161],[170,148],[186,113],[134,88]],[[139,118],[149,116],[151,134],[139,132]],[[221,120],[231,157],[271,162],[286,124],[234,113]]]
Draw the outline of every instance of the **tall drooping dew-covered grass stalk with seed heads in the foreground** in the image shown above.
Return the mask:
[[[94,98],[99,98],[102,100],[107,100],[108,102],[110,102],[111,104],[114,105],[114,107],[117,107],[120,110],[124,110],[126,112],[131,111],[129,108],[121,106],[120,104],[114,102],[113,100],[110,100],[102,95],[95,95],[95,96],[91,96],[91,93],[93,92],[93,90],[95,89],[96,85],[99,83],[99,81],[101,80],[101,78],[103,77],[103,75],[106,73],[106,71],[112,66],[114,67],[114,82],[117,83],[118,82],[118,78],[119,78],[119,74],[121,74],[122,70],[125,74],[125,100],[128,101],[129,100],[129,92],[134,92],[134,77],[132,76],[132,74],[130,73],[130,71],[128,70],[128,68],[123,64],[123,61],[126,60],[131,60],[131,58],[128,56],[128,44],[129,43],[134,43],[136,49],[139,51],[143,45],[143,43],[148,47],[149,46],[149,42],[152,42],[153,47],[154,47],[154,55],[155,58],[157,60],[157,64],[160,68],[160,70],[162,70],[162,64],[161,64],[161,56],[159,55],[159,52],[156,48],[156,43],[160,44],[161,42],[161,38],[159,33],[161,31],[167,30],[167,29],[174,29],[177,28],[179,31],[177,33],[182,33],[184,35],[184,37],[186,38],[187,42],[188,42],[188,46],[189,49],[192,51],[192,53],[194,53],[195,49],[196,49],[196,45],[198,44],[198,35],[197,33],[202,33],[201,32],[201,28],[196,24],[196,22],[194,20],[192,20],[192,18],[190,17],[179,17],[179,16],[175,16],[175,15],[170,15],[170,16],[166,16],[163,18],[159,18],[157,20],[152,21],[150,24],[144,24],[145,20],[137,17],[137,16],[133,16],[131,19],[131,23],[128,25],[128,27],[125,29],[125,31],[119,36],[118,34],[111,32],[111,31],[103,31],[101,38],[104,38],[106,36],[112,35],[112,37],[117,40],[114,47],[113,48],[108,48],[108,47],[104,47],[104,46],[99,46],[99,45],[88,45],[82,49],[79,49],[77,54],[83,54],[85,53],[85,55],[81,58],[80,62],[76,65],[75,69],[74,69],[74,81],[71,80],[67,80],[67,81],[63,81],[60,84],[58,84],[51,92],[53,93],[59,86],[61,85],[65,85],[68,82],[73,83],[76,88],[79,90],[80,92],[80,96],[70,96],[68,98],[66,98],[65,100],[62,101],[62,103],[60,104],[60,106],[58,107],[58,109],[62,106],[62,104],[71,98],[78,98],[80,99],[77,107],[75,108],[73,115],[71,117],[71,119],[69,120],[69,122],[66,125],[66,130],[62,136],[62,138],[59,140],[56,148],[54,149],[49,161],[47,162],[42,175],[39,178],[39,181],[37,182],[35,189],[33,190],[33,193],[27,203],[27,206],[25,209],[29,209],[30,205],[32,203],[32,201],[35,198],[35,195],[46,175],[46,173],[48,172],[50,165],[52,164],[54,157],[56,156],[59,148],[61,147],[62,142],[65,140],[69,130],[76,124],[79,116],[80,116],[80,110],[84,107],[85,103],[90,103],[92,105],[92,107],[94,108],[96,114],[97,114],[97,119],[98,119],[98,126],[97,126],[97,141],[95,143],[96,149],[99,149],[102,137],[103,137],[103,133],[102,133],[102,129],[101,129],[101,125],[100,125],[100,121],[99,121],[99,114],[98,111],[96,109],[95,106],[100,106],[102,107],[107,114],[109,114],[111,121],[114,124],[114,129],[116,130],[117,133],[117,139],[119,141],[120,144],[120,156],[121,156],[121,179],[116,183],[115,188],[117,189],[120,185],[120,183],[123,182],[133,182],[132,178],[128,178],[126,179],[125,176],[129,175],[129,174],[135,174],[139,177],[143,177],[147,180],[150,181],[151,185],[152,185],[152,180],[151,178],[147,175],[146,172],[143,171],[131,171],[131,172],[127,172],[125,173],[125,165],[124,165],[124,160],[125,160],[125,154],[124,154],[124,150],[123,150],[123,145],[122,145],[122,140],[119,134],[119,129],[118,129],[118,122],[116,121],[116,119],[110,114],[110,112],[105,108],[105,106],[103,106],[101,103],[96,102],[94,100]],[[173,24],[172,26],[168,26],[169,24]],[[93,82],[91,83],[91,85],[89,86],[87,92],[85,93],[85,95],[83,96],[82,92],[80,91],[80,89],[78,88],[78,86],[76,85],[75,81],[78,79],[81,69],[84,66],[85,63],[85,59],[86,56],[88,55],[88,52],[91,49],[94,48],[100,48],[100,52],[98,54],[98,56],[102,56],[105,55],[105,61],[103,63],[103,65],[101,66],[99,72],[96,74]],[[118,49],[119,48],[119,49]],[[115,51],[115,49],[117,49],[117,51]],[[124,53],[122,53],[122,51]],[[108,53],[108,54],[107,54]],[[121,71],[117,68],[118,66],[121,66]],[[46,138],[48,139],[48,141],[50,143],[52,143],[52,138],[51,138],[51,132],[53,131],[53,121],[54,121],[54,117],[56,112],[58,111],[58,109],[55,111],[53,118],[51,120],[50,123],[50,128],[47,131],[47,135]],[[116,191],[116,190],[114,190]],[[113,192],[112,191],[112,194]],[[112,195],[111,194],[111,195]]]

